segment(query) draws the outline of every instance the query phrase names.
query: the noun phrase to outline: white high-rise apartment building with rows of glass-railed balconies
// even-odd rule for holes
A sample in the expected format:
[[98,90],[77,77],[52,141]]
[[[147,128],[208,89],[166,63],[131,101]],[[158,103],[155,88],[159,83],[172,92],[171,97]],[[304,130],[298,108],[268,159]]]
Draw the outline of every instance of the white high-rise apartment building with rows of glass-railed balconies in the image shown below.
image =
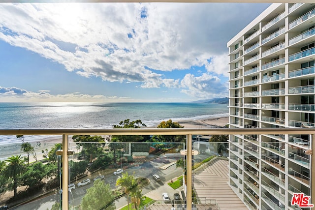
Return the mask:
[[[315,3],[273,3],[227,47],[230,127],[315,127]],[[291,199],[310,196],[309,140],[231,135],[231,188],[251,210],[300,209]]]

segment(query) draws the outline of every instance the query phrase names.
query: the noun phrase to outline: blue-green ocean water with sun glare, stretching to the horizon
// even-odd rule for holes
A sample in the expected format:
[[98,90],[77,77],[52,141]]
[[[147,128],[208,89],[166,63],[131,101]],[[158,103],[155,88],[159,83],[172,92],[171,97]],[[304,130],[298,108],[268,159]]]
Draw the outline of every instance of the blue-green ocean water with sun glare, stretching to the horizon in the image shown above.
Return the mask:
[[[227,113],[227,104],[206,103],[0,103],[0,129],[111,128],[126,119],[140,119],[150,127],[163,120],[200,120]],[[19,140],[0,136],[0,144],[12,141]]]

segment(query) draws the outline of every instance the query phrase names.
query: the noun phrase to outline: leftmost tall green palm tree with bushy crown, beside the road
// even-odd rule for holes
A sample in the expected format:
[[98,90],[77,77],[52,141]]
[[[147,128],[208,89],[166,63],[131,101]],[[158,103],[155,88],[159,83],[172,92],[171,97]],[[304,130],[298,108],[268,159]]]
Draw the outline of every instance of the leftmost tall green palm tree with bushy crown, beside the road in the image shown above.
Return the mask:
[[14,196],[17,194],[17,185],[19,176],[25,171],[26,167],[21,155],[8,157],[4,160],[7,165],[3,169],[3,176],[5,178],[12,178],[14,181]]

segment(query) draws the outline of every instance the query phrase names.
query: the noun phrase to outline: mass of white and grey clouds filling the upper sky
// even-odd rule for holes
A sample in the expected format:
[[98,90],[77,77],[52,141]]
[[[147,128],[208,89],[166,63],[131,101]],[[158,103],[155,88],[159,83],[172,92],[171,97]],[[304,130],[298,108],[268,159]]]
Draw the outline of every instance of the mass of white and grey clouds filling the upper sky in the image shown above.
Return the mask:
[[[0,39],[84,77],[140,82],[141,88],[184,87],[183,92],[204,97],[215,94],[209,88],[213,82],[225,87],[211,74],[227,76],[229,34],[242,29],[242,21],[249,22],[245,11],[251,10],[252,19],[256,16],[253,8],[233,3],[2,3]],[[145,68],[172,71],[203,65],[208,74],[194,77],[191,72],[184,78],[165,78]]]

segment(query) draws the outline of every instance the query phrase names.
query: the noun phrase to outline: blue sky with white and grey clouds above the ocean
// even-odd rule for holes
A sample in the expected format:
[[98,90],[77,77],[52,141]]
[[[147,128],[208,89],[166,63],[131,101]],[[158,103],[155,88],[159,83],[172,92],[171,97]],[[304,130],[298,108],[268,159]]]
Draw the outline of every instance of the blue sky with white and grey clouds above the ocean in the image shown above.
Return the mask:
[[0,3],[0,102],[228,96],[226,43],[268,3]]

